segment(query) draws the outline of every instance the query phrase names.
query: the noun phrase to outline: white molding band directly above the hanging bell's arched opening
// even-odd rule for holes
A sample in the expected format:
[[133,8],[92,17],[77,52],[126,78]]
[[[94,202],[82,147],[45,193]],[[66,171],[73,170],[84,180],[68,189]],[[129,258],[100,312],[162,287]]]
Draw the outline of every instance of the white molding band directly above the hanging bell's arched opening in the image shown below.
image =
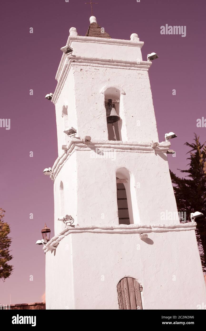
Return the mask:
[[57,87],[55,89],[54,95],[52,97],[52,102],[56,104],[68,72],[73,65],[90,66],[90,67],[104,67],[104,68],[119,68],[119,69],[132,69],[132,70],[143,70],[148,71],[151,62],[140,61],[140,62],[130,62],[130,61],[120,61],[113,59],[95,59],[95,58],[84,58],[72,55],[65,55],[65,61],[61,64],[61,69],[58,72],[56,79],[58,80]]

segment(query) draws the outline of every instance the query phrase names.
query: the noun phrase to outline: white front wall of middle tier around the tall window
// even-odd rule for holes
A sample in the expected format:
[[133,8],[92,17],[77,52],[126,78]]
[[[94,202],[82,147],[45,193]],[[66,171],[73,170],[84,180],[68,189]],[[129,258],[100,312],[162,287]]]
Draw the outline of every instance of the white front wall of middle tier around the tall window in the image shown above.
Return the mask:
[[[110,152],[103,151],[103,154],[110,156]],[[134,223],[160,224],[161,212],[177,212],[165,154],[123,151],[113,152],[113,159],[98,157],[93,150],[76,152],[79,225],[118,224],[116,171],[122,167],[134,177],[132,197],[137,202],[137,208],[133,203]],[[167,223],[177,223],[177,220],[167,220]]]

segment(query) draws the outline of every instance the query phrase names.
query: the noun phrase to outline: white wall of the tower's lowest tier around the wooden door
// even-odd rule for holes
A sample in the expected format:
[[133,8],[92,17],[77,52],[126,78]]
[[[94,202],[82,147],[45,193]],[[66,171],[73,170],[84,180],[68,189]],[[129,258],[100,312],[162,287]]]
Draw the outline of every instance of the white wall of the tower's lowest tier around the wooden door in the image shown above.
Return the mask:
[[[70,252],[62,243],[68,237],[72,238],[70,269]],[[139,234],[115,233],[70,234],[62,242],[55,256],[46,253],[47,309],[69,305],[73,309],[118,309],[116,286],[125,276],[143,286],[143,309],[196,309],[205,302],[194,230],[152,232],[145,242]]]

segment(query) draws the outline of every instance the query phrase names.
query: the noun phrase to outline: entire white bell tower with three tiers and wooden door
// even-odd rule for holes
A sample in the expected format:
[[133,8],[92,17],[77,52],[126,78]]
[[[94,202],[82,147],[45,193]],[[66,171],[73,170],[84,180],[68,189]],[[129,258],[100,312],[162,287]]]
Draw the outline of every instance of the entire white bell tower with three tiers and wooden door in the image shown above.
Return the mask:
[[[112,39],[94,16],[86,36],[69,32],[73,51],[52,98],[59,155],[46,308],[196,309],[206,296],[196,223],[177,217],[144,43],[135,33]],[[66,214],[72,226],[58,220]]]

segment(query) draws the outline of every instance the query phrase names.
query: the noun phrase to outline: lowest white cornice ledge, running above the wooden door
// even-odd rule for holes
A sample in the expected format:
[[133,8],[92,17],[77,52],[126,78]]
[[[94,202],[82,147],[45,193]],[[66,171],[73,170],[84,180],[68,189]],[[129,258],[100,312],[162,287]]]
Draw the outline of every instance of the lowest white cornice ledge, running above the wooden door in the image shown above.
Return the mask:
[[178,224],[158,224],[158,225],[144,225],[144,224],[130,224],[130,225],[117,225],[117,226],[79,226],[75,225],[66,226],[57,236],[54,236],[44,247],[44,253],[52,251],[57,248],[60,241],[70,233],[117,233],[117,234],[129,234],[129,233],[151,233],[151,232],[171,232],[171,231],[189,231],[195,230],[197,223],[178,223]]

